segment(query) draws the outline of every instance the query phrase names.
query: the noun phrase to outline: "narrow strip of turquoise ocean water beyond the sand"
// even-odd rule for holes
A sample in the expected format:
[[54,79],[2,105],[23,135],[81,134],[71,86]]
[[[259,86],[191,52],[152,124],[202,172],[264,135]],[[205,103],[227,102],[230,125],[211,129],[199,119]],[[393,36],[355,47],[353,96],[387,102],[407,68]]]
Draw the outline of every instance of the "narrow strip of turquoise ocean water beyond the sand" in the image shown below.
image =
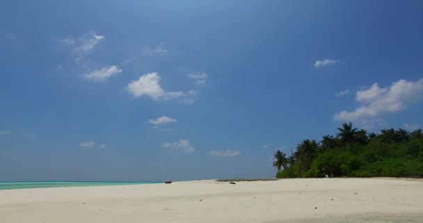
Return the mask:
[[45,187],[87,187],[107,185],[138,185],[157,182],[70,182],[70,181],[31,181],[31,182],[0,182],[0,190],[45,188]]

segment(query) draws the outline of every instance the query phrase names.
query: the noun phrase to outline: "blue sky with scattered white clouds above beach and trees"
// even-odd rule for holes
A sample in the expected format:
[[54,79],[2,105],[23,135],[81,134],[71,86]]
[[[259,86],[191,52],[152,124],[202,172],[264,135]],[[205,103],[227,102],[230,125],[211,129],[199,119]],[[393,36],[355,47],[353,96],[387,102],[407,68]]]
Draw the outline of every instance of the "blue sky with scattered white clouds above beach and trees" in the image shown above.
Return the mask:
[[0,180],[273,177],[422,128],[422,1],[1,1]]

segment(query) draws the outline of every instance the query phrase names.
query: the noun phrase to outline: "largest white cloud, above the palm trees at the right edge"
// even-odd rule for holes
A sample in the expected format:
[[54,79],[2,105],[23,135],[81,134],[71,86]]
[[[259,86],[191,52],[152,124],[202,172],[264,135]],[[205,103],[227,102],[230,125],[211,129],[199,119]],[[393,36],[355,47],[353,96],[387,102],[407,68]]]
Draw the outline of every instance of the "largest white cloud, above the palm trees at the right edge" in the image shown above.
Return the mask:
[[353,111],[342,111],[335,114],[337,121],[358,121],[366,123],[388,112],[398,112],[407,105],[418,102],[423,94],[423,79],[408,82],[401,79],[391,86],[381,88],[377,83],[369,89],[356,92],[356,101],[361,105]]

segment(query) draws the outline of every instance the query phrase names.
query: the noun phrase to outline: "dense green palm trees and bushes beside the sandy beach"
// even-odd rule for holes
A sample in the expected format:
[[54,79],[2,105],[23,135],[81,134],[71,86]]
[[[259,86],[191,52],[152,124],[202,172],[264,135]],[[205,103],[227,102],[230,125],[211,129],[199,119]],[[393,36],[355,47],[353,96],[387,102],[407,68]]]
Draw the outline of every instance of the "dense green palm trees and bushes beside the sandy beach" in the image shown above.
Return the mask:
[[289,157],[277,151],[276,178],[423,176],[422,130],[389,129],[376,134],[357,130],[352,123],[338,130],[336,137],[301,141]]

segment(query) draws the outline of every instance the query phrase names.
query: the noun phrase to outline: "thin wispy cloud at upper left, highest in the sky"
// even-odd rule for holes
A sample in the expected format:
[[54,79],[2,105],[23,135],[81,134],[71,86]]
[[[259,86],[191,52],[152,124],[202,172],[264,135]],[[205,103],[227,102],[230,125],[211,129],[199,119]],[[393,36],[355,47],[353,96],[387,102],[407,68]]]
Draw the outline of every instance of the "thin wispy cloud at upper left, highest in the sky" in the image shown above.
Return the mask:
[[84,56],[92,52],[95,45],[97,45],[103,38],[104,36],[99,36],[92,30],[80,38],[63,38],[58,40],[58,42],[72,47],[72,54],[77,56],[76,61],[79,62]]

